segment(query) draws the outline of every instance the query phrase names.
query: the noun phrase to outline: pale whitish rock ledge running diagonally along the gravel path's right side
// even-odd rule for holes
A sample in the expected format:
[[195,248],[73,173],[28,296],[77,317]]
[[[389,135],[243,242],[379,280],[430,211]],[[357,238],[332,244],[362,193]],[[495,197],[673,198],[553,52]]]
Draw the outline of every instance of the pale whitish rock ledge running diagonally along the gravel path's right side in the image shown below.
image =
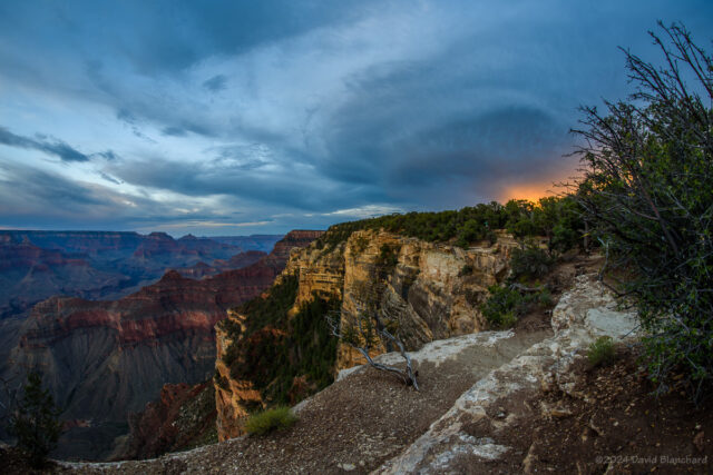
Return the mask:
[[[570,368],[583,357],[578,350],[599,336],[615,340],[637,336],[635,314],[621,311],[612,294],[593,275],[576,278],[574,288],[553,310],[551,323],[553,337],[480,379],[426,434],[377,473],[458,473],[462,467],[473,473],[487,471],[488,461],[507,456],[510,451],[498,443],[498,434],[514,431],[518,423],[517,412],[505,414],[498,408],[500,402],[543,387],[572,394],[575,376]],[[466,427],[477,427],[479,436],[468,434]],[[527,457],[522,469],[528,472]]]

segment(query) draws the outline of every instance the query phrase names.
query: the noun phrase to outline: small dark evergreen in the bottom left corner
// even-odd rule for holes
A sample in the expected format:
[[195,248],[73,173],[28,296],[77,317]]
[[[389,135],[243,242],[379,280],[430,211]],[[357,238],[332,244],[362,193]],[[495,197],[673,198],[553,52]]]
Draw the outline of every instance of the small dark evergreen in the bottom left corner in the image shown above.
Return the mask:
[[47,455],[57,447],[61,432],[59,413],[49,390],[42,389],[40,375],[29,373],[19,407],[10,417],[10,432],[17,436],[18,447],[36,468],[41,468]]

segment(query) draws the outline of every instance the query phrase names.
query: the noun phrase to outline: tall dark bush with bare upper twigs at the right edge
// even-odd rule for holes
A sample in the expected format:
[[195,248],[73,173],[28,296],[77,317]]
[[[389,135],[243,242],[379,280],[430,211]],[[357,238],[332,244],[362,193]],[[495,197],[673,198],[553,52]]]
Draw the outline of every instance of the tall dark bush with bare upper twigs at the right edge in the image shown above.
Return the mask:
[[665,390],[683,370],[699,397],[713,387],[713,57],[683,26],[660,27],[664,67],[624,51],[631,100],[606,102],[606,116],[584,108],[575,198],[606,270],[627,274],[649,374]]

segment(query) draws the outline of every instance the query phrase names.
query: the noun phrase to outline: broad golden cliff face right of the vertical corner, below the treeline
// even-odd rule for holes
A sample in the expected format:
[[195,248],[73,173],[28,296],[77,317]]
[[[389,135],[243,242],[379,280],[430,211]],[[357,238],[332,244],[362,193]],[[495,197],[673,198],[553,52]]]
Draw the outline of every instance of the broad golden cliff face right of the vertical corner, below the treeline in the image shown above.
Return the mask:
[[[488,286],[507,275],[516,246],[504,234],[494,245],[462,249],[383,231],[356,231],[343,250],[342,314],[359,311],[365,306],[364,296],[377,294],[378,308],[399,323],[409,350],[434,339],[480,331],[485,321],[478,306]],[[385,273],[384,254],[393,256]],[[382,287],[377,289],[378,285]],[[339,348],[336,369],[363,363],[351,348]]]

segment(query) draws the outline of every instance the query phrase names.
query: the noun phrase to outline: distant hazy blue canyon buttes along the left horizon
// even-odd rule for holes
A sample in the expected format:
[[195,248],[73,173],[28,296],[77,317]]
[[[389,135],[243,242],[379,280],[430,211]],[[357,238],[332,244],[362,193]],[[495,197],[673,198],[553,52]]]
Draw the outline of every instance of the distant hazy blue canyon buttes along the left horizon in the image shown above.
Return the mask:
[[[55,295],[116,299],[156,281],[168,269],[227,270],[245,251],[268,251],[281,236],[221,238],[165,232],[0,230],[0,320],[23,318]],[[237,268],[235,266],[232,268]]]

